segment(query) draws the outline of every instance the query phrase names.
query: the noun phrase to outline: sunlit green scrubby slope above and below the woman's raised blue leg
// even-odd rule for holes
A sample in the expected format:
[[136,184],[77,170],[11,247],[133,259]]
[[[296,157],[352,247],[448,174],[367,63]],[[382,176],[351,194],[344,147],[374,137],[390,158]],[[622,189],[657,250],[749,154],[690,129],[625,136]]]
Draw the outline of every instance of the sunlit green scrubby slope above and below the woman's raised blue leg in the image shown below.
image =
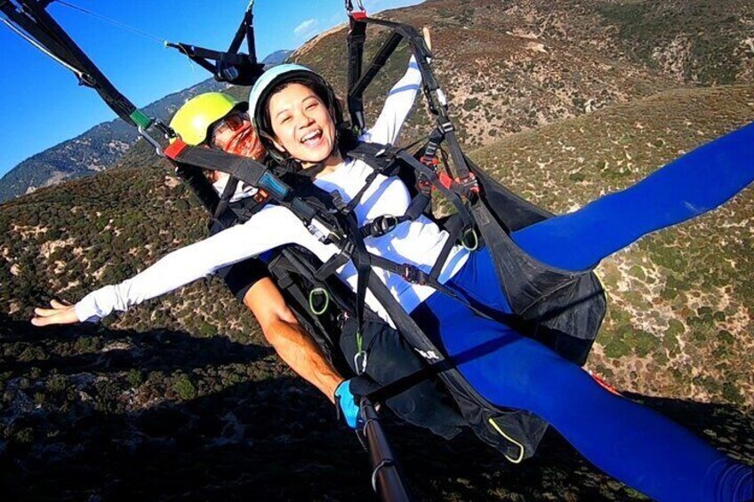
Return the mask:
[[[472,156],[530,200],[572,211],[749,123],[753,105],[751,85],[663,92]],[[637,392],[754,406],[752,216],[749,189],[606,260],[610,312],[590,365]]]

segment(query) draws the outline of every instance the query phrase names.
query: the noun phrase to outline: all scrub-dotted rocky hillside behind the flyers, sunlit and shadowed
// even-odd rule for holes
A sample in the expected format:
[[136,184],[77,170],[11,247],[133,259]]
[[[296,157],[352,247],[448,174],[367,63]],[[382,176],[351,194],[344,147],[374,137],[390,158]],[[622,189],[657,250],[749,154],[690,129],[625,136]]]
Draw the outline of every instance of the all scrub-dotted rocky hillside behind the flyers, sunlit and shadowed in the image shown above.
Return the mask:
[[[386,15],[433,26],[438,74],[470,156],[550,211],[627,187],[754,120],[754,52],[735,43],[752,22],[745,2],[430,1]],[[334,30],[293,58],[343,82],[343,45]],[[666,68],[661,55],[678,47],[686,59]],[[370,109],[405,60],[404,49]],[[406,143],[428,126],[420,108]],[[588,363],[749,463],[752,218],[750,187],[605,260],[598,275],[610,307]],[[371,497],[356,438],[217,279],[102,325],[28,324],[32,307],[121,281],[201,238],[205,223],[140,143],[116,169],[0,205],[4,499]],[[644,499],[552,431],[534,458],[513,466],[471,435],[444,442],[385,418],[421,500]]]

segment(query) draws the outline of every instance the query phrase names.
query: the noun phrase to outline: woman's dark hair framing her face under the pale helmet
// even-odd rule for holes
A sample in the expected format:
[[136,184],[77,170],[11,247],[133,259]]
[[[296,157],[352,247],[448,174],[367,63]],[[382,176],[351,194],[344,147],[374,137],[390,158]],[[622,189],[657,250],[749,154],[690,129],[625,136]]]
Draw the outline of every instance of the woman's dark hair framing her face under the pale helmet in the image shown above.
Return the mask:
[[[325,79],[317,74],[309,71],[301,71],[291,76],[286,76],[285,80],[278,84],[270,85],[269,91],[265,92],[257,105],[258,110],[261,111],[259,115],[259,123],[257,125],[257,133],[259,134],[262,145],[268,152],[278,153],[279,151],[272,143],[272,139],[275,138],[275,133],[272,131],[272,119],[269,116],[269,99],[277,92],[283,91],[288,85],[301,84],[309,87],[317,98],[321,100],[327,108],[330,117],[335,123],[335,147],[338,149],[338,153],[341,156],[345,156],[346,152],[356,147],[358,143],[357,135],[351,129],[348,122],[343,119],[343,109],[340,101],[335,96],[335,92],[330,84],[325,82]],[[287,153],[282,155],[285,160],[288,159]]]

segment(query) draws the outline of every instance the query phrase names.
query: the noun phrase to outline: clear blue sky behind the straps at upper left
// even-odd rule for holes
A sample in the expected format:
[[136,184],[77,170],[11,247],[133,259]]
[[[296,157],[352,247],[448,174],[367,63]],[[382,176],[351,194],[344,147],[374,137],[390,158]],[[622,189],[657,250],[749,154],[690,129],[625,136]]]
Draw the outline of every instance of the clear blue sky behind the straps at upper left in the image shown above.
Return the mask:
[[[161,40],[224,50],[248,0],[66,0],[153,37],[117,28],[66,5],[48,12],[137,107],[209,77]],[[421,0],[365,0],[368,12]],[[256,0],[254,28],[260,58],[295,49],[311,36],[345,22],[342,0]],[[345,60],[345,54],[343,55]],[[115,118],[96,92],[0,24],[0,176],[45,148]]]

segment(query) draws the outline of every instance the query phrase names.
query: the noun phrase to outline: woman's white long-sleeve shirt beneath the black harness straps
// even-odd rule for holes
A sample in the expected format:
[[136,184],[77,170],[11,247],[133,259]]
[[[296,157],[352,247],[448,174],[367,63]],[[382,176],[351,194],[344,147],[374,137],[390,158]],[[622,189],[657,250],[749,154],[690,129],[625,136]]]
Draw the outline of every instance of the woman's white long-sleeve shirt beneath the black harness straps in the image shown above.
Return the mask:
[[[412,60],[405,76],[389,92],[377,122],[360,139],[383,144],[395,142],[406,116],[413,107],[420,85],[421,73]],[[343,201],[348,203],[364,186],[366,177],[372,171],[366,163],[348,159],[337,170],[321,173],[314,180],[314,184],[327,192],[337,190]],[[402,216],[409,203],[411,196],[400,179],[377,175],[355,209],[358,224],[365,225],[378,216]],[[367,251],[373,254],[397,263],[411,264],[429,272],[447,239],[445,231],[441,231],[434,222],[421,216],[413,221],[405,221],[386,235],[366,237],[365,246]],[[334,244],[319,242],[293,212],[282,206],[270,204],[244,224],[230,227],[204,241],[172,251],[153,266],[123,283],[92,291],[76,304],[76,315],[81,321],[99,320],[114,310],[124,311],[142,301],[210,275],[218,268],[285,244],[299,244],[312,251],[323,262],[339,251]],[[466,259],[468,252],[461,246],[454,246],[438,277],[439,282],[445,283],[453,277]],[[380,268],[373,267],[373,271],[387,285],[406,312],[411,312],[434,292],[429,286],[407,283],[400,276]],[[350,261],[337,273],[341,280],[356,291],[357,271]],[[392,324],[389,315],[371,292],[367,292],[366,303]]]

